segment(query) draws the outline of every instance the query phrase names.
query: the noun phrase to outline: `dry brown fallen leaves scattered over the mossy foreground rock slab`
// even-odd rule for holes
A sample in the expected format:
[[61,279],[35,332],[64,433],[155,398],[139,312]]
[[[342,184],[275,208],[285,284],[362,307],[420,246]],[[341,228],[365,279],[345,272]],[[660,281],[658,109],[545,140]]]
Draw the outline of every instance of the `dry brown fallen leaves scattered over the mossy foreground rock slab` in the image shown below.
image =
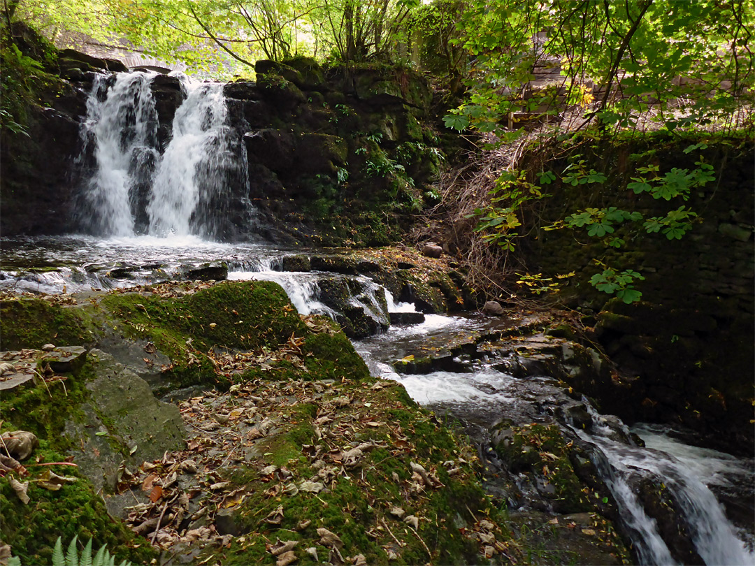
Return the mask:
[[[310,324],[317,325],[316,318],[310,318]],[[324,325],[322,331],[332,329]],[[296,365],[292,359],[300,355],[299,346],[292,338],[276,352],[211,356],[223,373],[242,374],[251,365],[269,365],[279,356]],[[228,392],[210,391],[182,401],[180,412],[190,431],[186,448],[136,470],[120,470],[119,493],[147,495],[140,499],[144,503],[128,507],[128,524],[173,557],[166,564],[202,555],[208,561],[215,558],[210,563],[223,564],[223,554],[232,549],[244,555],[262,548],[278,566],[323,556],[331,564],[367,564],[365,549],[344,543],[341,533],[322,518],[283,528],[293,520],[286,512],[291,501],[304,497],[327,508],[337,486],[350,483],[369,502],[372,516],[363,530],[382,552],[381,561],[402,560],[418,542],[424,559],[433,561],[439,557],[439,531],[451,537],[458,531],[479,546],[481,558],[498,556],[510,562],[516,554],[510,534],[490,527],[490,521],[467,520],[465,528],[457,529],[451,521],[441,521],[430,505],[433,493],[445,488],[442,477],[476,481],[476,455],[468,445],[458,444],[452,452],[438,450],[434,459],[421,457],[414,424],[387,421],[387,411],[405,409],[399,387],[382,380],[257,379],[236,383]],[[418,421],[434,420],[419,409],[412,411]],[[297,444],[287,461],[275,461],[287,435],[307,425],[311,443]],[[393,492],[376,485],[370,475],[375,451],[395,463],[380,480],[397,488]],[[347,523],[353,521],[348,505],[343,513]],[[426,531],[432,540],[425,540]]]

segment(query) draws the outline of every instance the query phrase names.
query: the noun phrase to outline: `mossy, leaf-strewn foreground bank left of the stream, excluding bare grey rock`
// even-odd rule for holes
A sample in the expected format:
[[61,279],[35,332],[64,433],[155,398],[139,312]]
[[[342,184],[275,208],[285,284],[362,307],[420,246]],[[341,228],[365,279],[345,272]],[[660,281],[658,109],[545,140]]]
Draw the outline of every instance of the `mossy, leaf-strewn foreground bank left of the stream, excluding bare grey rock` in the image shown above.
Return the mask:
[[[4,349],[89,346],[116,333],[146,354],[162,349],[175,365],[204,356],[202,383],[220,389],[180,404],[186,448],[136,467],[128,446],[116,446],[125,463],[114,494],[134,498],[128,526],[149,540],[112,519],[69,466],[82,449],[72,425],[91,411],[89,362],[45,370],[44,383],[3,395],[2,431],[26,429],[41,442],[34,460],[0,480],[2,540],[23,564],[49,561],[57,538],[74,536],[138,564],[155,555],[152,545],[217,564],[508,564],[537,554],[484,494],[468,439],[402,386],[369,377],[331,321],[299,317],[283,297],[275,284],[247,281],[111,291],[79,305],[66,304],[70,297],[0,303]],[[57,491],[40,483],[48,467],[69,478]],[[11,478],[29,482],[29,503]]]

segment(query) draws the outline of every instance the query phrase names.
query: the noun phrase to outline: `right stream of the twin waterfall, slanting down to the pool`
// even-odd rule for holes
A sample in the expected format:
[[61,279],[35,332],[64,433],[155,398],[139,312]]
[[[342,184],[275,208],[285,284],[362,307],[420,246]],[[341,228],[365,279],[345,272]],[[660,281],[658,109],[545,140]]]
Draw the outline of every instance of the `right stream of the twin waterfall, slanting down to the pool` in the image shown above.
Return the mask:
[[198,83],[182,76],[186,100],[173,119],[173,137],[158,166],[147,205],[149,233],[189,235],[202,232],[202,211],[223,191],[216,171],[233,159],[223,85]]

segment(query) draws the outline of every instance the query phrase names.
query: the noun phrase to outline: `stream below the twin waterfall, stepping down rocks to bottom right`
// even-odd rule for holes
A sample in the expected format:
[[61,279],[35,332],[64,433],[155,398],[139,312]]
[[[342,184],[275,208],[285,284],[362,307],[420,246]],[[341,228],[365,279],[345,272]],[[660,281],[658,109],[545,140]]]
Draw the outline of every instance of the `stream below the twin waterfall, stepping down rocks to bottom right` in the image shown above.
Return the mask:
[[[321,297],[320,285],[328,278],[345,278],[346,288],[358,289],[348,304],[375,321],[374,334],[354,341],[371,374],[402,383],[414,401],[473,439],[488,492],[509,509],[513,523],[532,528],[533,521],[589,521],[584,513],[565,512],[569,509],[554,496],[547,474],[513,465],[516,460],[511,460],[507,447],[516,445],[526,427],[541,426],[577,445],[578,459],[589,458],[585,466],[594,472],[584,478],[594,476],[601,484],[593,490],[602,497],[606,513],[614,513],[612,520],[631,541],[639,563],[755,563],[753,460],[696,448],[694,435],[686,431],[643,423],[628,428],[616,417],[598,414],[587,398],[548,374],[514,377],[516,355],[510,345],[479,339],[502,336],[512,325],[509,318],[424,314],[413,303],[399,303],[368,274],[283,272],[282,258],[303,251],[269,245],[210,244],[191,236],[72,236],[3,239],[0,248],[0,290],[9,294],[128,288],[223,266],[229,279],[278,282],[300,313],[339,320],[341,313]],[[414,315],[415,324],[390,324],[392,318],[407,314]],[[414,360],[428,355],[439,363],[414,365]],[[664,506],[673,512],[664,515]],[[562,539],[560,544],[570,543]],[[580,564],[591,563],[585,548],[583,544],[572,549],[572,555],[581,555]],[[554,556],[552,563],[562,559]]]

